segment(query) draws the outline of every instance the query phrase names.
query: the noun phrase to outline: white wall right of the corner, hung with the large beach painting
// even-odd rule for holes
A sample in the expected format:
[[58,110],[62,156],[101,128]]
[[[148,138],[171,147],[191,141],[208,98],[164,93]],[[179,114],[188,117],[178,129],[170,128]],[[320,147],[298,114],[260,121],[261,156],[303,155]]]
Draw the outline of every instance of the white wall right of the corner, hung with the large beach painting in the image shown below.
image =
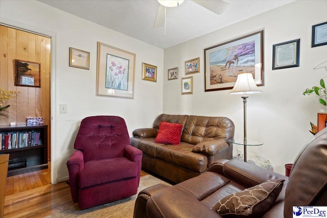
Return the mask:
[[[268,158],[275,172],[285,174],[300,149],[313,138],[309,122],[317,123],[317,112],[326,109],[315,96],[302,91],[319,85],[325,69],[313,70],[327,61],[327,45],[311,47],[312,25],[327,21],[327,1],[296,1],[229,27],[170,47],[164,53],[164,72],[179,67],[178,80],[164,76],[164,113],[227,116],[235,123],[235,136],[243,137],[243,102],[230,90],[204,92],[204,49],[264,29],[264,78],[262,93],[249,96],[247,137],[263,146],[248,147]],[[228,12],[228,11],[227,11]],[[225,12],[225,13],[227,13]],[[195,28],[196,29],[196,28]],[[272,70],[272,45],[300,39],[300,66]],[[193,74],[193,94],[181,95],[184,61],[200,57],[200,73]],[[188,75],[189,76],[189,75]],[[233,154],[236,155],[235,146]]]

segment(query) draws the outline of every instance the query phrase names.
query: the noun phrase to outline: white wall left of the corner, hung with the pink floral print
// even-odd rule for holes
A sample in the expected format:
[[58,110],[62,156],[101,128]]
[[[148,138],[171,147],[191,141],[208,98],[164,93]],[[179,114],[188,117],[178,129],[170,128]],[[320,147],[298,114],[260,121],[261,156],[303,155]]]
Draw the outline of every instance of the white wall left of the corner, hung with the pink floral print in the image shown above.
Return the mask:
[[[53,183],[68,177],[66,161],[74,151],[75,137],[84,117],[122,116],[131,135],[134,129],[151,127],[155,117],[162,113],[162,49],[37,1],[0,1],[0,8],[1,22],[55,34]],[[96,96],[98,41],[136,54],[134,99]],[[90,52],[89,70],[69,67],[69,47]],[[156,83],[142,80],[142,62],[157,66]],[[67,104],[66,114],[59,113],[59,104]]]

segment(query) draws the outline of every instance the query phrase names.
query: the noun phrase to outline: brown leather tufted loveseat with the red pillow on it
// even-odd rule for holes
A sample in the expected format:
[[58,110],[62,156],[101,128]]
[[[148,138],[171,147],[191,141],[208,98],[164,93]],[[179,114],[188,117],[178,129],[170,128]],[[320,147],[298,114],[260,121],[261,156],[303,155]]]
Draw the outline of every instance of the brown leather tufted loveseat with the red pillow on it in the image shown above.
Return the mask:
[[[179,146],[155,143],[161,122],[183,126]],[[207,171],[219,159],[232,158],[234,124],[227,117],[160,114],[153,128],[133,131],[131,145],[143,151],[142,168],[179,183]]]

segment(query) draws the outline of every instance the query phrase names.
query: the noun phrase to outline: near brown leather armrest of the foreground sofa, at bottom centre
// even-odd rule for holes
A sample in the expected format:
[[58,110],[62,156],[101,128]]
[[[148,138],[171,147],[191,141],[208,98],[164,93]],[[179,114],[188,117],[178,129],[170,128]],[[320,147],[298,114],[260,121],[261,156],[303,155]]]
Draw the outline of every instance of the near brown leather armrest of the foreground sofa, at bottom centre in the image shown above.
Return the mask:
[[156,185],[155,189],[158,191],[145,189],[139,193],[134,215],[141,212],[146,213],[147,217],[221,217],[198,199],[174,186],[167,188],[161,184]]

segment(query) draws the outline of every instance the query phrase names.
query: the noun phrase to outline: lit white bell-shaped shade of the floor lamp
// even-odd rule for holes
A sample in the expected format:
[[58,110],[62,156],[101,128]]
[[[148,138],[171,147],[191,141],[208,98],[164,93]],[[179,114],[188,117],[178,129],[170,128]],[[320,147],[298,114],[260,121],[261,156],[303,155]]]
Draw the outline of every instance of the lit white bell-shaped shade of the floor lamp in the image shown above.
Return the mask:
[[229,92],[229,94],[253,94],[262,92],[259,90],[258,86],[256,86],[252,74],[249,72],[242,72],[237,76],[237,80],[233,89]]

